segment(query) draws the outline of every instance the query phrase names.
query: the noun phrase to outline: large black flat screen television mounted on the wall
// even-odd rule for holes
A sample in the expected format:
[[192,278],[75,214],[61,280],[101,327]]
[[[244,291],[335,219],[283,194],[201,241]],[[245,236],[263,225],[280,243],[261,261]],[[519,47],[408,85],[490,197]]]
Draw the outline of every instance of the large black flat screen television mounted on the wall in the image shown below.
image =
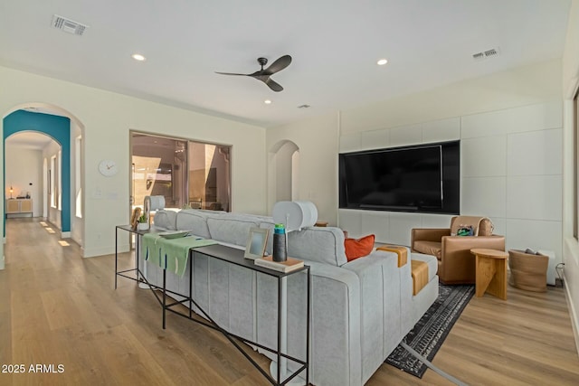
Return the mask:
[[339,155],[339,207],[460,212],[460,142]]

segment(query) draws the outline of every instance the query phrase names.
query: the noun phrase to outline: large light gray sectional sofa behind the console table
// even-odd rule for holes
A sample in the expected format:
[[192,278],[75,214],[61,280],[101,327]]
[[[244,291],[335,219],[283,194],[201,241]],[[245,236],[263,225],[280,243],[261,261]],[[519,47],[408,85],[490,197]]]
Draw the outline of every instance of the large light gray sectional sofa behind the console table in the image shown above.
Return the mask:
[[[271,217],[228,212],[159,211],[161,230],[188,230],[243,249],[250,228],[273,229]],[[266,251],[271,253],[270,240]],[[288,235],[289,256],[303,259],[311,272],[309,380],[316,385],[362,385],[382,365],[438,296],[437,261],[408,252],[398,267],[393,252],[374,250],[347,262],[344,232],[310,227]],[[143,254],[141,254],[143,256]],[[429,265],[429,282],[413,296],[410,259]],[[147,279],[161,284],[160,268],[147,264]],[[187,268],[188,269],[188,268]],[[167,289],[186,294],[183,277],[167,272]],[[193,261],[193,297],[223,328],[233,334],[276,347],[277,281],[266,275],[197,255]],[[288,278],[288,352],[305,358],[307,275]],[[271,353],[264,354],[275,358]]]

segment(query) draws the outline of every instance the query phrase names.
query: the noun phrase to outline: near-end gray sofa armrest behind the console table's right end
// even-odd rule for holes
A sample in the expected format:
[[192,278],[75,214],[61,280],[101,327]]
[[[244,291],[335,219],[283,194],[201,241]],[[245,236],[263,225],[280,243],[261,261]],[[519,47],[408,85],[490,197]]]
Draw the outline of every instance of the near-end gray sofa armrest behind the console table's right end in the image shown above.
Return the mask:
[[[360,341],[360,278],[341,267],[304,259],[311,274],[310,382],[348,386],[361,384],[362,354]],[[287,278],[288,353],[305,358],[307,275]],[[277,280],[257,275],[256,317],[259,344],[277,344]],[[271,360],[275,353],[261,350]],[[290,370],[297,363],[289,362]]]

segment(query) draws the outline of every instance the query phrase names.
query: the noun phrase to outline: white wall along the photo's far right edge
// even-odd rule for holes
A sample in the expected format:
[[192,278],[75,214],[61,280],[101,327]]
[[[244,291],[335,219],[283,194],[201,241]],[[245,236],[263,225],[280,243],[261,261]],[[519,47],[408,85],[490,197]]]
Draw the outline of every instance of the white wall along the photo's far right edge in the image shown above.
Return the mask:
[[[571,317],[574,321],[575,344],[579,349],[579,242],[573,236],[574,199],[574,93],[579,87],[579,0],[573,0],[567,25],[567,39],[563,55],[564,112],[564,234],[565,283],[569,299]],[[579,118],[577,118],[579,119]]]

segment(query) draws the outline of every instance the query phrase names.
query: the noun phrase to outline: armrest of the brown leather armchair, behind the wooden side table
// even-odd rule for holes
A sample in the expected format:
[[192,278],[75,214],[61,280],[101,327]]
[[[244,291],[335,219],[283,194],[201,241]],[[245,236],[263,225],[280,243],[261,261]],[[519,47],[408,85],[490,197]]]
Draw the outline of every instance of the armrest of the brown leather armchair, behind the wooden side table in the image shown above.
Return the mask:
[[504,236],[444,236],[439,277],[446,284],[474,283],[476,277],[473,248],[505,250]]

